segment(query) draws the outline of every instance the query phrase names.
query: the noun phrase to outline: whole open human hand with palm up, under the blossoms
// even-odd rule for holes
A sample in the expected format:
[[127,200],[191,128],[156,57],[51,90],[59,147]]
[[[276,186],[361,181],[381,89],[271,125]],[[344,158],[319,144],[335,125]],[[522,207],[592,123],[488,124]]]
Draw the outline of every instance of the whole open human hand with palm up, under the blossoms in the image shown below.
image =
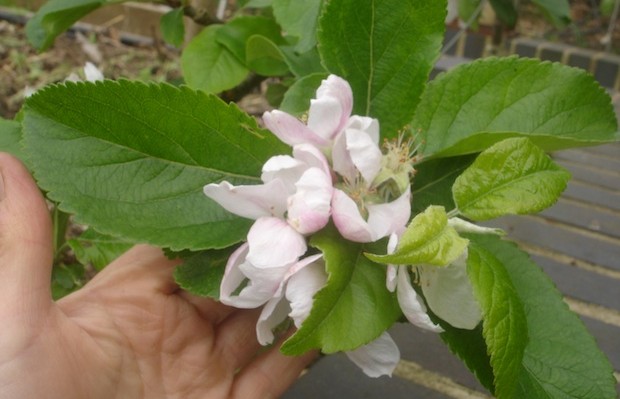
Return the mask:
[[45,200],[12,156],[0,176],[0,398],[275,398],[316,356],[262,348],[259,310],[181,291],[146,245],[53,302]]

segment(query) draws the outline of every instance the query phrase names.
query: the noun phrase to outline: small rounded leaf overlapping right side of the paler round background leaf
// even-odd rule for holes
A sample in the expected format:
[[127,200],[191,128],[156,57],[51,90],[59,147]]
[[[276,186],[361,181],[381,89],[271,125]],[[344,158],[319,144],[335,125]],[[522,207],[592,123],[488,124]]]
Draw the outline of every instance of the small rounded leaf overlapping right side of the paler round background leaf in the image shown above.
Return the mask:
[[282,51],[264,36],[250,36],[245,56],[248,68],[259,75],[282,76],[289,72]]

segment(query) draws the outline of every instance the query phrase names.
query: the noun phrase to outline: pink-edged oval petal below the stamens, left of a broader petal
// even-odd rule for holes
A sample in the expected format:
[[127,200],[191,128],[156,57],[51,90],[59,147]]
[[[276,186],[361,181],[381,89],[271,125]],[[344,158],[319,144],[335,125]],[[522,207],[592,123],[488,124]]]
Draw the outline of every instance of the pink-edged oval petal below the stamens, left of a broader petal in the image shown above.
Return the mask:
[[332,220],[340,234],[355,242],[372,242],[370,226],[362,218],[357,204],[343,191],[334,189],[332,195]]

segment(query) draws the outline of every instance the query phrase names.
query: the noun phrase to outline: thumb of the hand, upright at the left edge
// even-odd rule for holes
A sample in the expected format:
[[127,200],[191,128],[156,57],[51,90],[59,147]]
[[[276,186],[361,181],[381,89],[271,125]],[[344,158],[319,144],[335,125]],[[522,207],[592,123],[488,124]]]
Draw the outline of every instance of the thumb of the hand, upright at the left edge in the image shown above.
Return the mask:
[[26,167],[0,153],[0,301],[32,318],[51,304],[52,223]]

